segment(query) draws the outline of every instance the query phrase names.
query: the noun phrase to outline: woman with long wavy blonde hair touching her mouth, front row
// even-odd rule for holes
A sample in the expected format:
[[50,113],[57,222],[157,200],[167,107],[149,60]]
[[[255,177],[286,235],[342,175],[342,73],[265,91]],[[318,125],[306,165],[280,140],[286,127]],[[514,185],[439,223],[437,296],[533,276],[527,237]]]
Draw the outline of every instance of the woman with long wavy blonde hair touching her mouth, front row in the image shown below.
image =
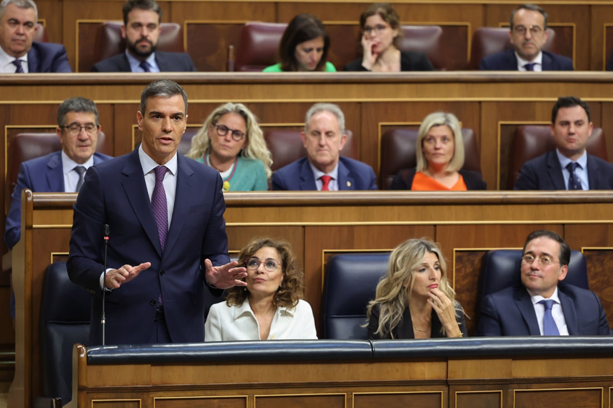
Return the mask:
[[432,241],[414,239],[397,246],[377,285],[376,298],[368,304],[368,339],[468,336],[446,267]]

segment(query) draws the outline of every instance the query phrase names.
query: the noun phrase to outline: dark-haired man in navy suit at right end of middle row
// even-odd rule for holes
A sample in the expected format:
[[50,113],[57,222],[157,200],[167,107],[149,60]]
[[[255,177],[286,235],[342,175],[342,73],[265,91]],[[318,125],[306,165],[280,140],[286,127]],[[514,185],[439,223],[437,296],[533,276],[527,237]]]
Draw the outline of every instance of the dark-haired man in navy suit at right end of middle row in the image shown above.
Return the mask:
[[522,165],[515,190],[611,190],[613,164],[588,154],[592,116],[587,102],[558,98],[549,124],[555,150]]

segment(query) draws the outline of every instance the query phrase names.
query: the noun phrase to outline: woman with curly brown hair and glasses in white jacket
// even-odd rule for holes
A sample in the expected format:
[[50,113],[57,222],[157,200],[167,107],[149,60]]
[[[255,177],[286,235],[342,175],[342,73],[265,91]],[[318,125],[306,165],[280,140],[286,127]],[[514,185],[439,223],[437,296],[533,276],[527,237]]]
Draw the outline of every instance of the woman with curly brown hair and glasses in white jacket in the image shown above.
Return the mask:
[[241,249],[238,265],[247,269],[247,286],[227,289],[226,301],[211,306],[205,341],[317,338],[289,243],[257,238]]

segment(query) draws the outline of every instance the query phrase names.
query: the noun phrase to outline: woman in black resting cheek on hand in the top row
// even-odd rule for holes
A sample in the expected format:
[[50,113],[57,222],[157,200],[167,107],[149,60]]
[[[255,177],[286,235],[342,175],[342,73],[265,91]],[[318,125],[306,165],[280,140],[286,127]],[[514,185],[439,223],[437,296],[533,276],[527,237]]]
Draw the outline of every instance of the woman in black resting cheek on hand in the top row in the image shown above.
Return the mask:
[[349,62],[346,71],[432,71],[428,57],[421,52],[400,51],[400,17],[387,3],[375,3],[360,15],[362,59]]

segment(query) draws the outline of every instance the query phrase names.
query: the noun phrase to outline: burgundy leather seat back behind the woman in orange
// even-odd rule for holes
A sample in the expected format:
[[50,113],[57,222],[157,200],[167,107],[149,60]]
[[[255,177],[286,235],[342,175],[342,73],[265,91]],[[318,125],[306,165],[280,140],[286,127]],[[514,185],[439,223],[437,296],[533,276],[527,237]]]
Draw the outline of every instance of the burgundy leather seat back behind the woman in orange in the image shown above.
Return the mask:
[[[464,141],[465,170],[481,173],[481,156],[477,148],[477,138],[473,129],[462,128]],[[394,176],[403,168],[413,168],[417,165],[416,146],[417,129],[397,127],[388,130],[381,137],[381,168],[379,169],[379,187],[389,189]]]

